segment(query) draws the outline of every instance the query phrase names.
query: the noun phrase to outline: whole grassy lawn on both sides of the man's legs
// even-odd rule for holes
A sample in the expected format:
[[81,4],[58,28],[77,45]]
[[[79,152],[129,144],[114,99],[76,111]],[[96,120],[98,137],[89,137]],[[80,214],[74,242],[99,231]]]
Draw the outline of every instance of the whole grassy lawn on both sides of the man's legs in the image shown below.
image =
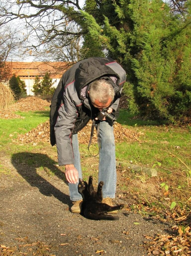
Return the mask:
[[[36,171],[40,176],[46,174],[48,176],[57,175],[64,179],[64,174],[60,169],[63,167],[55,166],[57,160],[56,147],[51,147],[50,144],[44,142],[39,142],[36,146],[30,143],[18,145],[12,142],[12,139],[15,140],[18,134],[24,134],[48,120],[49,111],[16,112],[16,114],[25,118],[0,120],[1,156],[10,156],[13,164],[16,162],[19,165],[26,166],[30,170]],[[131,129],[134,133],[141,132],[141,135],[139,136],[139,141],[116,143],[116,160],[122,162],[132,161],[132,164],[151,168],[155,165],[154,168],[158,171],[155,185],[158,187],[157,192],[161,193],[161,197],[159,195],[159,198],[157,198],[157,203],[156,199],[154,199],[156,207],[165,209],[167,203],[169,204],[167,207],[170,207],[171,202],[176,201],[178,203],[181,202],[179,203],[181,208],[191,209],[189,204],[191,194],[186,192],[191,186],[191,171],[189,170],[191,168],[191,130],[172,125],[168,126],[165,122],[159,122],[158,120],[135,119],[126,110],[120,111],[118,122]],[[87,145],[79,145],[79,148],[83,178],[87,180],[90,174],[93,175],[95,179],[94,185],[96,185],[99,157],[92,157],[87,150]],[[91,145],[90,151],[94,155],[97,154],[97,145]],[[0,174],[11,175],[6,164],[3,165],[1,163]],[[141,191],[140,185],[141,183],[144,186],[152,187],[153,179],[131,170],[126,170],[121,176],[118,176],[118,179],[122,179],[120,189],[124,193],[128,192],[129,195],[131,193],[133,195],[133,193],[139,192],[140,201],[141,196],[145,195],[145,199],[149,204],[153,204],[152,198],[148,198],[147,193]],[[135,185],[136,183],[139,185]],[[172,199],[170,202],[162,199],[162,193],[165,190],[160,186],[161,183],[165,183],[165,185],[169,186],[169,189],[171,188],[171,194],[168,195]],[[178,188],[181,190],[178,190]],[[161,192],[162,190],[164,191]],[[144,209],[140,211],[144,213]]]

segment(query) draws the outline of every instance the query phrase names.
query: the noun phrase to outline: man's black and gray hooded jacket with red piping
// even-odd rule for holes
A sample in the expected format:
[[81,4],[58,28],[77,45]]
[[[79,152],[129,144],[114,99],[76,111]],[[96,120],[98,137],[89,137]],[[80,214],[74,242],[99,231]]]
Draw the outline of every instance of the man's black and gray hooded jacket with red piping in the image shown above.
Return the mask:
[[72,134],[81,130],[96,111],[87,95],[88,87],[96,79],[112,82],[115,98],[111,108],[117,111],[122,87],[126,80],[124,69],[111,58],[89,58],[75,63],[59,81],[51,102],[50,139],[57,146],[58,164],[74,164]]

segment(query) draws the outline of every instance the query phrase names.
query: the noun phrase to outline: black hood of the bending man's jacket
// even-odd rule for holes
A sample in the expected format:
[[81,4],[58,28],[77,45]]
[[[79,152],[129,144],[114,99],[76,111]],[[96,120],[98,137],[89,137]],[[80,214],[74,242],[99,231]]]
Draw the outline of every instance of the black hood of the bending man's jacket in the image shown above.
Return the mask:
[[80,63],[75,71],[75,89],[79,99],[81,98],[81,90],[84,86],[99,79],[103,76],[116,76],[119,80],[119,75],[106,64],[114,62],[111,58],[89,58],[87,61]]

